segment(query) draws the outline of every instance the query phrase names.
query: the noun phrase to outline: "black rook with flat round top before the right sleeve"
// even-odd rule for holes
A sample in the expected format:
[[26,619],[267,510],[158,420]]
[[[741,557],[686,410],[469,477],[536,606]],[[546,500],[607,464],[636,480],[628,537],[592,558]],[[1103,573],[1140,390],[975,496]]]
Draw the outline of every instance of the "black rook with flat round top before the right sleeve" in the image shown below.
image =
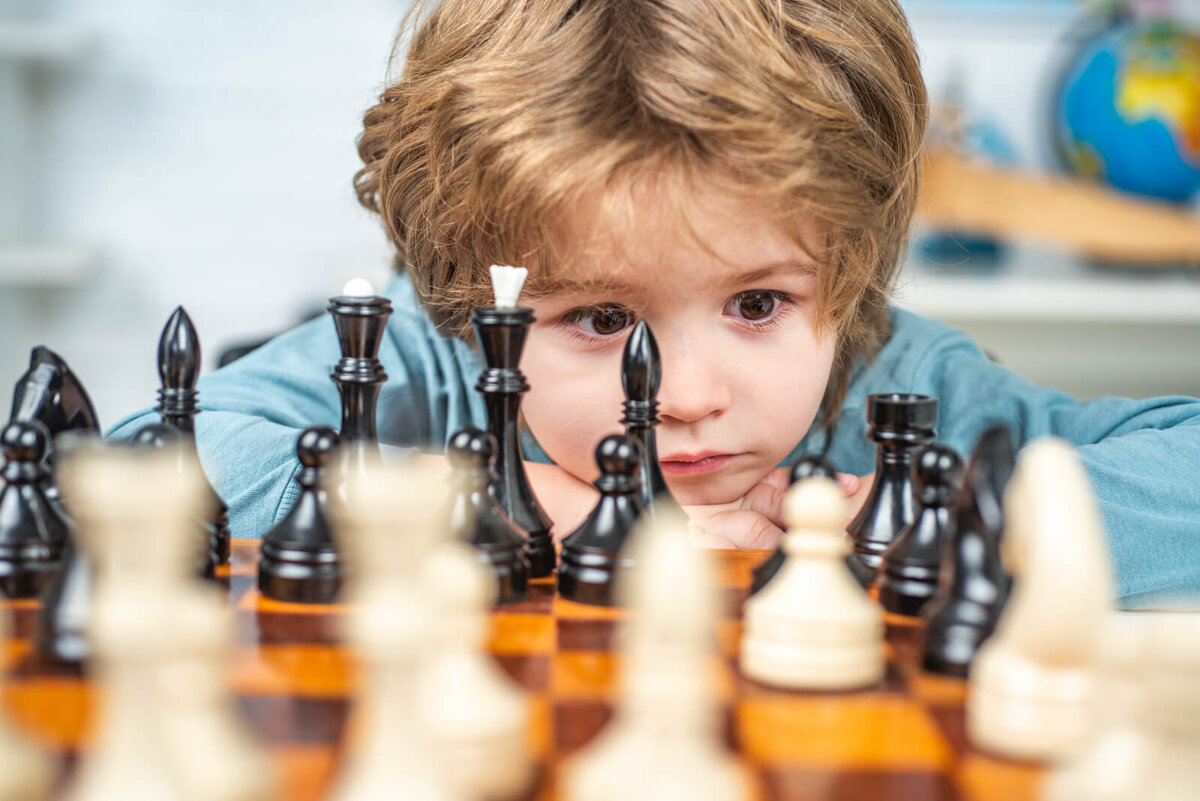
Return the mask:
[[934,441],[937,398],[890,392],[866,397],[866,436],[876,444],[875,483],[846,526],[856,578],[869,586],[883,552],[917,518],[912,489],[914,452]]

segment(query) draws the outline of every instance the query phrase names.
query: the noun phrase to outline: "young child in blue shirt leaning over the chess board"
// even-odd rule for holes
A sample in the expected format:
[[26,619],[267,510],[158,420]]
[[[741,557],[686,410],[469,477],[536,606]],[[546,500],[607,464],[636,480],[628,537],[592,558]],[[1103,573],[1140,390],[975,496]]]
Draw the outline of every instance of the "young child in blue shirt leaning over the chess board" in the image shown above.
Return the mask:
[[[382,441],[437,452],[485,424],[469,313],[491,302],[488,266],[516,264],[538,318],[526,456],[558,536],[593,501],[624,341],[644,318],[664,366],[662,470],[710,544],[774,546],[780,465],[824,451],[866,476],[866,396],[919,392],[940,398],[940,439],[960,452],[994,422],[1018,445],[1079,446],[1123,602],[1200,591],[1200,403],[1080,404],[888,306],[926,116],[895,0],[427,11],[359,141],[359,199],[400,257]],[[294,500],[300,429],[337,426],[337,357],[314,320],[200,381],[199,452],[236,536],[260,536]],[[856,505],[869,482],[844,482]]]

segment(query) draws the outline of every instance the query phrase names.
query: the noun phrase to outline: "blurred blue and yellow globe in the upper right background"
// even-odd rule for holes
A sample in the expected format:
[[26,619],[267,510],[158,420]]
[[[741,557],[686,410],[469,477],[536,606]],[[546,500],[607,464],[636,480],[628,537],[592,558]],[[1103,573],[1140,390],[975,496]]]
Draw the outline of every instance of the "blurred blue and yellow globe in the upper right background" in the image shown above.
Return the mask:
[[1072,171],[1187,203],[1200,192],[1200,35],[1116,22],[1063,74],[1057,144]]

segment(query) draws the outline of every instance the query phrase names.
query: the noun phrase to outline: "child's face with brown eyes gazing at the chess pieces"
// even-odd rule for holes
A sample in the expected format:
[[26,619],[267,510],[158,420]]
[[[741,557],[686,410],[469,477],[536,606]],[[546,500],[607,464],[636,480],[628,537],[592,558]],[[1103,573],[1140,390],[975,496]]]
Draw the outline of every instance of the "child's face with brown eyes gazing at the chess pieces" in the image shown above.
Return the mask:
[[685,221],[653,189],[635,199],[636,219],[576,215],[571,263],[554,276],[564,288],[522,301],[538,317],[521,363],[533,387],[524,417],[559,466],[594,480],[596,444],[622,430],[622,354],[644,318],[662,357],[658,446],[671,492],[684,505],[728,502],[816,416],[835,344],[816,329],[817,281],[745,201],[701,191]]

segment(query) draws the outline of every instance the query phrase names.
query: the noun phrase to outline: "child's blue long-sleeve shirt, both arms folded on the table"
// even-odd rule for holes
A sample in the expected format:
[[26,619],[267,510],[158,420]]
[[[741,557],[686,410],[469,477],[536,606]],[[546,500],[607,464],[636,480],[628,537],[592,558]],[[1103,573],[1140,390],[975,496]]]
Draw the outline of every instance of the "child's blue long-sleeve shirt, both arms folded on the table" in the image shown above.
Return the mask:
[[[404,276],[385,293],[394,312],[379,360],[382,442],[440,450],[464,424],[486,426],[474,384],[481,369],[467,343],[438,333]],[[938,439],[961,453],[995,422],[1016,445],[1054,434],[1079,448],[1108,526],[1120,601],[1148,606],[1200,597],[1200,401],[1102,398],[1079,403],[996,365],[970,337],[899,308],[878,355],[860,365],[833,434],[814,428],[793,451],[827,450],[839,470],[875,469],[866,439],[866,396],[917,392],[938,398]],[[200,379],[197,446],[205,472],[229,507],[234,536],[277,523],[299,492],[295,442],[313,424],[336,428],[341,401],[329,374],[341,356],[334,326],[312,320]],[[150,410],[116,423],[126,439],[154,421]],[[832,436],[832,441],[827,438]],[[526,456],[547,462],[527,439]]]

